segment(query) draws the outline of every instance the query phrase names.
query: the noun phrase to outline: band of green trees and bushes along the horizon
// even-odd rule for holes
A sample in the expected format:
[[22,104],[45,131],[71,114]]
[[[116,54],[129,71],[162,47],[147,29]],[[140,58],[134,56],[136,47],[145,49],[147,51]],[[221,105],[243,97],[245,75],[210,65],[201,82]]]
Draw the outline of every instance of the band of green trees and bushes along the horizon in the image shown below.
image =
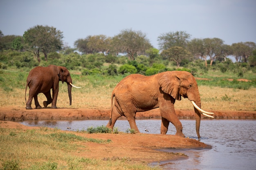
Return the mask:
[[249,70],[256,73],[254,42],[227,45],[219,38],[191,39],[185,31],[177,31],[160,35],[156,49],[146,34],[131,29],[114,37],[90,35],[78,39],[75,49],[65,46],[62,39],[63,33],[52,26],[34,26],[23,36],[4,36],[0,31],[0,68],[55,64],[79,69],[85,75],[152,75],[167,70],[186,70],[195,75],[209,69],[232,71],[240,77]]

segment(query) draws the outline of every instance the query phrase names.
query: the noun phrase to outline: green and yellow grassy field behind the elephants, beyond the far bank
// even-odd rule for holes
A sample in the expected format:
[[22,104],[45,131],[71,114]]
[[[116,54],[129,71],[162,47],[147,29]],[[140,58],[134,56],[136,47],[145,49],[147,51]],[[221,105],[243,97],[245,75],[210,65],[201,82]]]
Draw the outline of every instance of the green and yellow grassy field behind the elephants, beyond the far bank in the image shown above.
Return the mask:
[[[29,71],[2,71],[0,74],[0,107],[13,106],[25,108],[25,85]],[[59,108],[90,108],[109,109],[110,96],[116,84],[125,77],[81,75],[79,71],[71,71],[73,84],[82,88],[72,88],[72,106],[69,106],[67,84],[59,83],[57,107]],[[256,81],[252,74],[248,77],[251,82],[240,82],[234,76],[227,80],[227,75],[216,73],[218,77],[209,74],[208,80],[197,80],[200,91],[202,108],[205,110],[247,110],[256,111]],[[202,77],[207,77],[203,75]],[[255,75],[256,77],[256,75]],[[245,77],[246,78],[246,77]],[[29,90],[29,89],[28,89]],[[27,98],[28,98],[27,90]],[[45,96],[40,93],[38,101],[43,106]],[[34,101],[34,100],[33,100]],[[35,107],[32,102],[32,107]],[[188,99],[176,101],[176,109],[193,109]]]

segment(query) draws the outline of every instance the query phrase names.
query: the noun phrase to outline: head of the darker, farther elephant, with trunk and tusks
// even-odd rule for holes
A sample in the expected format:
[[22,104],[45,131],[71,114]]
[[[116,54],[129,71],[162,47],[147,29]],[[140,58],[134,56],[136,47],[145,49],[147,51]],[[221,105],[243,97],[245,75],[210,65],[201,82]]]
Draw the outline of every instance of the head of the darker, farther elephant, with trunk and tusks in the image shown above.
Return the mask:
[[72,86],[75,88],[81,88],[81,87],[76,87],[72,84],[72,78],[70,76],[70,72],[67,70],[66,67],[57,66],[57,70],[58,70],[59,81],[61,81],[62,84],[63,82],[67,83],[67,91],[68,91],[68,96],[69,96],[70,105],[71,105],[72,104],[72,95],[71,95]]

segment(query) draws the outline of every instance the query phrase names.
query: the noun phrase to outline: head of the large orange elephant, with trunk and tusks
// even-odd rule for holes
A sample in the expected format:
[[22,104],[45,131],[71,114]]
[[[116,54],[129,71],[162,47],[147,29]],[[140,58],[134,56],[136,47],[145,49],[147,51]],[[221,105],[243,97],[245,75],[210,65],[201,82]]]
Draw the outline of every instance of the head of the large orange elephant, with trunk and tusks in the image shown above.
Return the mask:
[[207,114],[213,114],[201,109],[200,94],[198,91],[198,85],[195,77],[186,71],[171,71],[165,72],[162,77],[159,78],[158,84],[164,93],[170,94],[174,99],[181,100],[181,97],[188,98],[194,106],[195,110],[195,128],[200,138],[199,128],[201,114],[213,118],[213,116]]

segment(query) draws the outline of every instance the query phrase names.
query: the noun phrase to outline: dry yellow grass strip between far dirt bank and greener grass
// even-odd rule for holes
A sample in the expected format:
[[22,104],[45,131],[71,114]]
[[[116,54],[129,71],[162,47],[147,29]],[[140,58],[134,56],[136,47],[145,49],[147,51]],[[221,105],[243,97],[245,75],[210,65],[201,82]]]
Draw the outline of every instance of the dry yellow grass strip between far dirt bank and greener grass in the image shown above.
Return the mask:
[[[66,84],[60,83],[58,94],[58,108],[90,108],[90,109],[109,109],[111,105],[110,96],[114,87],[96,86],[93,87],[88,82],[78,82],[76,84],[82,88],[72,88],[72,106],[69,106]],[[256,111],[256,88],[249,90],[199,86],[202,100],[202,109],[204,110],[245,110]],[[0,90],[0,106],[12,106],[25,108],[25,89],[15,88],[11,92]],[[28,92],[27,92],[28,98]],[[40,93],[38,101],[43,106],[45,96]],[[34,100],[32,107],[35,107]],[[176,109],[193,110],[188,99],[182,98],[176,101]]]

